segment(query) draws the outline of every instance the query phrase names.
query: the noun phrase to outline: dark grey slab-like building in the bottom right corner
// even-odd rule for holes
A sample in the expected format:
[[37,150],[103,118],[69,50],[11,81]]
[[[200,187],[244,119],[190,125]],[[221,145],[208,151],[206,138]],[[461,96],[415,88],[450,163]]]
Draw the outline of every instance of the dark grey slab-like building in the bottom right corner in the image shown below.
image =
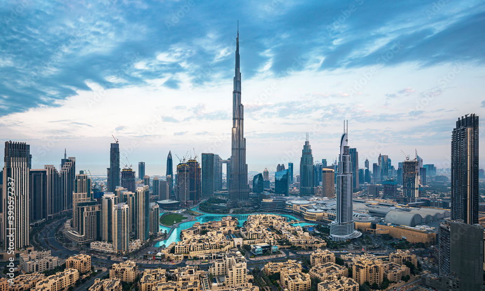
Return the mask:
[[[461,221],[445,221],[439,225],[438,236],[439,275],[457,277],[460,281],[460,290],[482,290],[483,226]],[[446,283],[448,280],[442,281]]]

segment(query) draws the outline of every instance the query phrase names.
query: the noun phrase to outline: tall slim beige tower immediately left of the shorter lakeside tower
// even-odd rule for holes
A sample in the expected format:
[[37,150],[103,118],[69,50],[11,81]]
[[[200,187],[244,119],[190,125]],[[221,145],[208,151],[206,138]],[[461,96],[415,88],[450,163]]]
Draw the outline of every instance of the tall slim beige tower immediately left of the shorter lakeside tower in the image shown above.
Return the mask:
[[147,185],[136,187],[135,207],[136,207],[136,238],[145,242],[148,240],[148,231],[150,223],[150,201],[149,188]]

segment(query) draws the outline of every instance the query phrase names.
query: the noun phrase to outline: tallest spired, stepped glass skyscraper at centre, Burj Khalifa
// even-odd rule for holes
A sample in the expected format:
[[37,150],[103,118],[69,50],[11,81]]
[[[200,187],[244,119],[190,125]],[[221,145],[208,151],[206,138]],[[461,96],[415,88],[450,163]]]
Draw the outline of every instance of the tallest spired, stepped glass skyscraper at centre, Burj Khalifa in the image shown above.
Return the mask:
[[234,90],[232,91],[232,154],[229,199],[246,201],[249,199],[247,182],[246,139],[244,138],[244,107],[241,104],[241,72],[239,67],[239,31],[236,38],[236,68]]

